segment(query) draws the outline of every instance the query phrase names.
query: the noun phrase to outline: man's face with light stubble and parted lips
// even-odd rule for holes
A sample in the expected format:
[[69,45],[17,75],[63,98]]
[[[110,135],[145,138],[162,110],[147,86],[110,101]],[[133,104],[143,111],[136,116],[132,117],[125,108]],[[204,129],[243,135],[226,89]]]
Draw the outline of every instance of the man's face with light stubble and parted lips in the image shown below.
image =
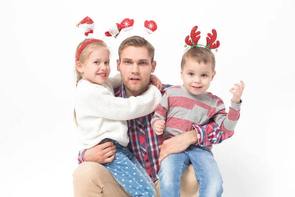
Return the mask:
[[117,70],[121,72],[122,83],[126,92],[138,96],[147,90],[150,73],[154,72],[156,62],[151,63],[148,49],[145,47],[128,46],[117,60]]

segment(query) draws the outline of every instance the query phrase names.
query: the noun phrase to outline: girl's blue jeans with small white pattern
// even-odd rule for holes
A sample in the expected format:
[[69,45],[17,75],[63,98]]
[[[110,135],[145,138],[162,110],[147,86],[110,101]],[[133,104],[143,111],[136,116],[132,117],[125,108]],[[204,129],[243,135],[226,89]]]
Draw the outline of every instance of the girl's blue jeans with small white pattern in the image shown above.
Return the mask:
[[102,164],[132,197],[157,197],[156,187],[148,173],[127,147],[117,146],[113,162]]

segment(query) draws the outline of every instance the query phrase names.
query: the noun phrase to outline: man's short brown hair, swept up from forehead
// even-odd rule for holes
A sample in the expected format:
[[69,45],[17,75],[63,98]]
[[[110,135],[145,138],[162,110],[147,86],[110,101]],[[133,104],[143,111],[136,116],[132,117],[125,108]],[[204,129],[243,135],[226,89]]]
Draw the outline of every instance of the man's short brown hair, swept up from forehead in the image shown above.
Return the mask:
[[148,40],[146,40],[145,38],[142,38],[142,37],[140,37],[138,35],[134,35],[134,36],[126,38],[120,44],[119,49],[118,49],[119,60],[120,61],[121,61],[120,55],[121,55],[122,51],[128,46],[146,47],[146,49],[148,49],[148,55],[151,58],[151,63],[153,62],[154,55],[155,55],[154,47],[148,42]]

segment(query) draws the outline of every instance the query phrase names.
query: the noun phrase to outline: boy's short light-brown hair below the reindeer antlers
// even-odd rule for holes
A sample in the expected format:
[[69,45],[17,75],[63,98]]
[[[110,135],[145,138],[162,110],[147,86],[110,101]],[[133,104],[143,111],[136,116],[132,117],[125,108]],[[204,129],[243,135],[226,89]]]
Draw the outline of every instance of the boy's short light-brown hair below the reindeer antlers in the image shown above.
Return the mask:
[[181,69],[185,65],[188,59],[194,59],[199,64],[211,64],[212,70],[215,70],[215,57],[214,54],[204,47],[194,47],[188,49],[182,56],[181,59]]

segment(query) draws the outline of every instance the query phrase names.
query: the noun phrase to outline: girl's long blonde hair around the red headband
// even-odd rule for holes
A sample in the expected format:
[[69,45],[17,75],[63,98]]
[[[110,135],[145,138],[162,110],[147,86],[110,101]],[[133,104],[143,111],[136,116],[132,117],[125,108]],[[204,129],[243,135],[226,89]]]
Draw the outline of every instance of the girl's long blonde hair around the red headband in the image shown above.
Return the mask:
[[[78,51],[79,49],[81,48],[81,46],[90,41],[90,40],[93,40],[94,38],[87,38],[85,40],[83,40],[82,42],[80,42],[76,48],[76,55],[75,55],[75,60],[77,60],[77,55],[78,55]],[[110,50],[108,48],[108,46],[106,45],[106,43],[102,42],[102,41],[94,41],[94,42],[91,42],[89,43],[86,47],[84,47],[84,49],[81,51],[80,55],[79,55],[79,59],[78,61],[81,63],[81,64],[84,64],[88,58],[89,58],[89,55],[92,53],[92,51],[94,49],[96,49],[97,47],[102,47],[102,48],[105,48],[106,50],[108,50],[108,52],[110,53]],[[76,87],[78,85],[78,82],[82,79],[82,74],[78,71],[77,69],[77,65],[75,64],[75,70],[76,70],[76,75],[77,75],[77,81],[76,81]],[[77,118],[76,118],[76,111],[74,109],[74,120],[76,122],[76,125],[78,126],[78,123],[77,123]]]

